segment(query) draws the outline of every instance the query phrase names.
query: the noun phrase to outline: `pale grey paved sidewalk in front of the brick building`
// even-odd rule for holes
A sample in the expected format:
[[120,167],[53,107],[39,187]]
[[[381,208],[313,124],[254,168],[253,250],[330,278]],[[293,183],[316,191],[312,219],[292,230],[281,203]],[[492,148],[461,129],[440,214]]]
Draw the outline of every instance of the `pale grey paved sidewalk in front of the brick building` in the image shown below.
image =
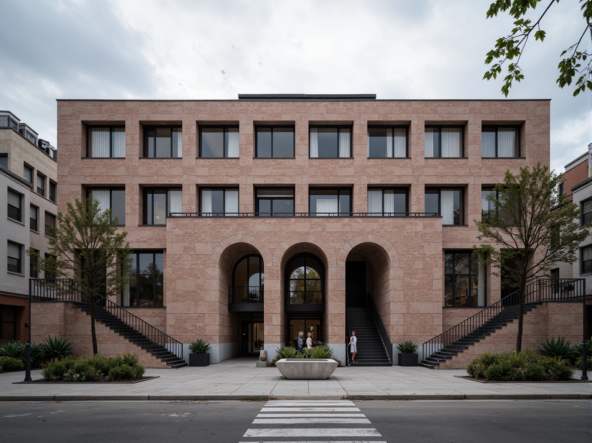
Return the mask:
[[[590,382],[479,383],[455,377],[466,375],[464,370],[398,366],[337,368],[327,380],[287,380],[277,368],[257,368],[255,362],[233,358],[203,368],[147,369],[145,375],[158,378],[140,383],[18,383],[24,371],[5,373],[0,401],[592,399]],[[41,371],[31,377],[40,379]]]

